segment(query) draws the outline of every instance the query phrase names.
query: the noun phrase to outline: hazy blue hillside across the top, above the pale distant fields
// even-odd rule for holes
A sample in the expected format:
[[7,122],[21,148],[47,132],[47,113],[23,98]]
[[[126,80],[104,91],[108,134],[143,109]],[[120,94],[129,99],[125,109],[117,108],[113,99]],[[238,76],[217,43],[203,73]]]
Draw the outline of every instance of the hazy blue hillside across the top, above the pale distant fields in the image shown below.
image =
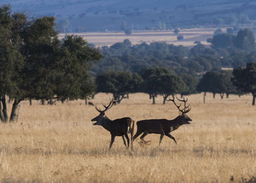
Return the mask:
[[61,32],[165,30],[200,26],[241,26],[255,21],[252,0],[2,0],[13,12],[56,17]]

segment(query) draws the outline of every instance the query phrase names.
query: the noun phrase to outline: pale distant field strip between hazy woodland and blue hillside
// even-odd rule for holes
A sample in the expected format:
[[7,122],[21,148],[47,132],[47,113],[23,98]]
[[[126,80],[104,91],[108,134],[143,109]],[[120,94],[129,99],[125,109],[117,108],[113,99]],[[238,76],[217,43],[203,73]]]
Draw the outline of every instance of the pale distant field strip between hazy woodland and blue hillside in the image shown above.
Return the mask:
[[[195,46],[195,41],[200,41],[202,44],[208,45],[207,38],[214,36],[216,28],[190,28],[182,29],[178,35],[183,35],[184,39],[177,40],[177,34],[172,31],[133,31],[132,35],[125,35],[124,32],[87,32],[76,33],[78,36],[83,36],[87,42],[95,44],[97,47],[111,46],[116,42],[123,42],[124,39],[129,39],[132,44],[141,44],[146,42],[166,42],[176,46],[183,45],[185,47]],[[225,28],[223,29],[225,31]],[[64,38],[65,34],[59,34],[60,38]]]

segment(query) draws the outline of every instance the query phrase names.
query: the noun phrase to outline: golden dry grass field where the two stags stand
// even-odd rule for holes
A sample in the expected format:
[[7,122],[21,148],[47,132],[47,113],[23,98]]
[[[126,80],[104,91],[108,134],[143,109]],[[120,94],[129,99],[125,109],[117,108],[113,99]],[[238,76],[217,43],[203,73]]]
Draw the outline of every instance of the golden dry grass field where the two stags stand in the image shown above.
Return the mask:
[[[99,93],[97,106],[110,96]],[[84,101],[20,106],[18,122],[0,124],[0,182],[234,182],[256,175],[256,106],[251,96],[189,96],[191,125],[171,134],[178,145],[159,135],[151,144],[134,141],[133,151],[116,137],[109,151],[110,133],[91,119],[99,114]],[[8,106],[9,109],[11,106]],[[106,112],[110,119],[132,117],[173,119],[178,110],[162,96],[152,105],[143,93]],[[136,131],[136,129],[135,129]]]

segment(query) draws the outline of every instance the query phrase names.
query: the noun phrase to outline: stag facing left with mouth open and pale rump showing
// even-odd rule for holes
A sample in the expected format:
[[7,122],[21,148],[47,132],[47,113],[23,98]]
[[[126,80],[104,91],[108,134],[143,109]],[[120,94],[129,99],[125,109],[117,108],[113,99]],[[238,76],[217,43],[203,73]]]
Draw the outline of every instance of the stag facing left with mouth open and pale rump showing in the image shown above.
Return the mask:
[[[113,104],[116,104],[117,101],[113,101],[113,99],[110,101],[110,104],[108,106],[105,106],[105,104],[102,104],[105,107],[105,110],[98,109],[97,106],[95,106],[95,109],[99,112],[99,115],[97,117],[94,117],[91,121],[96,121],[94,125],[101,125],[103,128],[105,128],[107,131],[111,134],[111,141],[110,141],[110,147],[111,149],[112,144],[115,140],[116,136],[122,136],[124,145],[129,148],[129,137],[128,133],[131,133],[131,144],[132,144],[132,136],[134,131],[134,120],[132,120],[130,117],[123,117],[121,119],[116,120],[110,120],[106,115],[105,112],[110,109]],[[124,139],[127,139],[127,143]]]

